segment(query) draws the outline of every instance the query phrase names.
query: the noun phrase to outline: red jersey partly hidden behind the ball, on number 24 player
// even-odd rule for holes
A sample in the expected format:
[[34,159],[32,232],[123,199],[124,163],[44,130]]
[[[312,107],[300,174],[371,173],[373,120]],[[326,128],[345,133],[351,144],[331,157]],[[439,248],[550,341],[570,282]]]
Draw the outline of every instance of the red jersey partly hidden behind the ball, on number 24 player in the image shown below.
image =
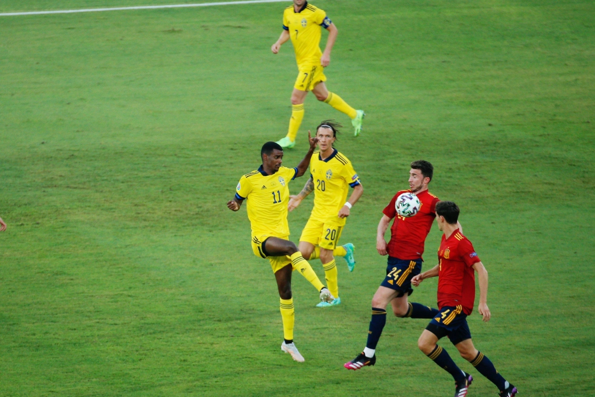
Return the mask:
[[389,218],[397,218],[390,228],[390,241],[387,246],[389,255],[402,260],[415,260],[424,254],[425,237],[430,233],[434,218],[436,218],[436,203],[440,200],[428,190],[415,193],[421,207],[412,217],[405,218],[397,214],[394,203],[402,193],[411,193],[411,190],[400,190],[394,195],[389,205],[384,208],[383,214]]

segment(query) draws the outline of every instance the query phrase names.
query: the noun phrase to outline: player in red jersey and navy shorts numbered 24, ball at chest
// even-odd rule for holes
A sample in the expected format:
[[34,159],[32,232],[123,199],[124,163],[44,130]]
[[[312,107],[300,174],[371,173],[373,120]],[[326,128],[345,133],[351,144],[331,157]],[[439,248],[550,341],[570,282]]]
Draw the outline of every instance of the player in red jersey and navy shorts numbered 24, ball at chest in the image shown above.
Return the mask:
[[[386,324],[386,307],[389,303],[392,304],[393,313],[397,317],[432,318],[438,312],[437,309],[408,302],[408,296],[413,292],[411,279],[421,271],[425,237],[430,233],[436,218],[434,208],[439,199],[428,192],[428,183],[433,174],[434,167],[430,162],[412,162],[409,190],[397,192],[384,208],[384,215],[378,224],[376,249],[380,255],[389,255],[386,277],[372,298],[372,320],[369,324],[366,347],[358,357],[343,365],[348,370],[358,370],[366,365],[375,364],[375,349]],[[394,205],[399,195],[406,192],[415,193],[421,202],[418,213],[409,218],[397,215]],[[384,233],[395,216],[387,245]]]

